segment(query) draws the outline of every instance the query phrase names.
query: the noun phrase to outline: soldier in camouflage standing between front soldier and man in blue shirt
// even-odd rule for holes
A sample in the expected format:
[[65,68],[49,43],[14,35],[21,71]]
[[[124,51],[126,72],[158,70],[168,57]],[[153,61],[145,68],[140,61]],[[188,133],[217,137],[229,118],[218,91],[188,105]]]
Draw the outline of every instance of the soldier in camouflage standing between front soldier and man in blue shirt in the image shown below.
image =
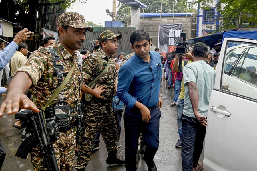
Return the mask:
[[[103,140],[106,144],[108,157],[107,164],[124,164],[125,159],[117,156],[118,131],[115,116],[112,110],[112,99],[115,94],[115,78],[117,71],[113,63],[113,54],[118,50],[118,40],[121,34],[114,34],[112,31],[104,31],[99,36],[100,48],[85,58],[82,64],[83,78],[90,84],[100,73],[103,72],[109,62],[109,68],[103,76],[95,83],[102,89],[101,96],[95,96],[95,92],[88,89],[87,94],[93,95],[90,101],[83,104],[84,113],[82,118],[83,133],[78,138],[78,159],[75,168],[85,171],[91,159],[93,141],[97,131],[101,131]],[[93,88],[93,87],[92,87]],[[84,98],[83,95],[82,99]],[[85,100],[84,100],[85,101]]]

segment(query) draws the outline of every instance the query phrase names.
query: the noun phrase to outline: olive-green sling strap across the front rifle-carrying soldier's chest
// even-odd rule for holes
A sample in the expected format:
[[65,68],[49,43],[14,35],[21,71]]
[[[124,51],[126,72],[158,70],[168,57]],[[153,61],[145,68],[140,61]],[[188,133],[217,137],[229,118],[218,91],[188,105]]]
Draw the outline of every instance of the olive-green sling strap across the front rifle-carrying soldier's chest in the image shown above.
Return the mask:
[[75,61],[71,67],[70,72],[67,74],[65,79],[63,80],[62,84],[57,88],[57,90],[53,93],[53,95],[50,97],[50,99],[47,101],[46,105],[42,107],[41,109],[45,111],[46,107],[59,95],[59,93],[64,89],[66,84],[69,82],[69,79],[71,78],[71,75],[73,73],[73,70],[75,68]]

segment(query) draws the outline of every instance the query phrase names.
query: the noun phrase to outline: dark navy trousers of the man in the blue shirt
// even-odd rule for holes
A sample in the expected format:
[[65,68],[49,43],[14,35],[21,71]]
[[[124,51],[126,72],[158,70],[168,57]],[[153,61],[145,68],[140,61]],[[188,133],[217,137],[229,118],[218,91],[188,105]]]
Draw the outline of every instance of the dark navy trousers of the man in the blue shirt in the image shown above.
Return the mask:
[[141,131],[146,146],[144,153],[145,161],[152,162],[154,155],[158,150],[161,111],[157,107],[150,112],[150,115],[151,120],[149,123],[146,123],[142,121],[140,110],[135,107],[124,113],[125,158],[127,171],[136,171],[136,151],[138,149],[138,138]]

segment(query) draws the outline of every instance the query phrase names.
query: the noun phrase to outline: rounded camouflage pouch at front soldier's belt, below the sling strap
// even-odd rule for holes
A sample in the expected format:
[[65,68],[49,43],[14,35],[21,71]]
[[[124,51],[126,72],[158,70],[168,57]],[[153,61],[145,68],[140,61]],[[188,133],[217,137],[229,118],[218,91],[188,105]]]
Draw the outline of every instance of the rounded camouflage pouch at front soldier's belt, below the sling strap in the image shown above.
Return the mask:
[[55,103],[53,105],[58,129],[65,129],[70,125],[70,109],[65,102]]

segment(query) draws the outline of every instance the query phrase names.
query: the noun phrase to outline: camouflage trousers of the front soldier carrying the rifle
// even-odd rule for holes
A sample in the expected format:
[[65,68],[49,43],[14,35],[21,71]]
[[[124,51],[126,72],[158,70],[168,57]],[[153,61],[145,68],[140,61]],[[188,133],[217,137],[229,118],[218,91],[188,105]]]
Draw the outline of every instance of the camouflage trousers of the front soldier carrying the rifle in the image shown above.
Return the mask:
[[[59,132],[60,138],[53,143],[55,157],[60,171],[72,171],[76,148],[76,127]],[[30,153],[33,170],[47,170],[43,165],[40,146],[37,144]]]

